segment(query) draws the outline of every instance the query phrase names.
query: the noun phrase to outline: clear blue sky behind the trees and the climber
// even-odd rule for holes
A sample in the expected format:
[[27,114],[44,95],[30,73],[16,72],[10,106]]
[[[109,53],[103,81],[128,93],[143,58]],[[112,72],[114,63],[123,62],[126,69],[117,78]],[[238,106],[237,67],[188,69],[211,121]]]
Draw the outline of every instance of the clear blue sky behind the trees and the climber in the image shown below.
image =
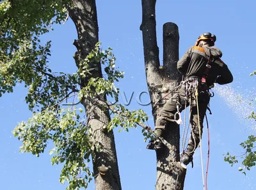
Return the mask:
[[[179,26],[180,57],[197,37],[206,31],[216,34],[216,47],[223,52],[223,61],[234,75],[230,85],[218,86],[213,91],[214,98],[209,115],[211,157],[208,189],[256,189],[256,170],[253,168],[244,176],[237,168],[223,161],[225,152],[241,155],[239,143],[249,134],[255,133],[252,122],[243,118],[253,109],[248,102],[255,98],[255,78],[250,73],[255,70],[255,1],[158,1],[156,9],[157,40],[160,60],[163,60],[162,27],[165,22],[175,22]],[[117,57],[116,67],[125,71],[125,78],[118,87],[131,99],[131,109],[143,108],[148,113],[148,124],[153,127],[151,106],[141,106],[136,102],[140,92],[147,91],[145,80],[141,24],[141,1],[97,1],[99,38],[102,47],[112,47]],[[72,42],[77,38],[72,20],[65,25],[55,26],[54,31],[42,36],[42,41],[52,40],[52,57],[49,65],[53,71],[74,73],[76,65],[72,56],[76,51]],[[20,121],[31,117],[24,98],[27,89],[15,87],[12,94],[4,94],[0,99],[0,182],[1,189],[65,189],[58,182],[61,166],[51,166],[51,156],[47,152],[39,158],[31,154],[20,154],[21,143],[13,138],[11,131]],[[121,94],[122,95],[122,94]],[[236,98],[242,96],[242,102]],[[124,98],[124,97],[123,97]],[[147,102],[148,96],[142,96]],[[120,101],[124,101],[121,97]],[[255,109],[255,107],[254,107]],[[181,126],[180,129],[183,127]],[[202,140],[204,168],[207,161],[207,131],[204,128]],[[129,133],[118,133],[115,140],[122,188],[153,190],[156,183],[156,154],[145,149],[141,128]],[[180,130],[182,133],[182,130]],[[52,145],[49,144],[49,149]],[[49,150],[48,149],[48,150]],[[184,189],[203,189],[200,166],[200,152],[196,150],[194,168],[188,166]],[[90,184],[88,189],[94,189]]]

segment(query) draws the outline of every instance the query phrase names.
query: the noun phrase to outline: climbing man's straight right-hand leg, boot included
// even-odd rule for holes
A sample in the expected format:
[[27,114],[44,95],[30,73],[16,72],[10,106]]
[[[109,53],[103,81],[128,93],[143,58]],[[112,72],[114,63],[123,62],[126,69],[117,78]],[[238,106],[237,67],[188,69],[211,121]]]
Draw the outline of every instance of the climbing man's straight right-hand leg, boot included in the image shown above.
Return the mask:
[[207,110],[207,105],[209,103],[210,97],[207,92],[199,94],[198,97],[198,110],[199,110],[199,121],[200,124],[198,124],[198,113],[197,113],[197,107],[194,103],[191,105],[191,118],[190,118],[190,124],[191,124],[191,133],[190,138],[188,140],[188,148],[182,155],[182,163],[189,164],[193,160],[193,154],[195,152],[196,147],[198,147],[198,144],[200,143],[200,136],[202,138],[203,133],[203,122],[204,122],[204,116],[205,112]]

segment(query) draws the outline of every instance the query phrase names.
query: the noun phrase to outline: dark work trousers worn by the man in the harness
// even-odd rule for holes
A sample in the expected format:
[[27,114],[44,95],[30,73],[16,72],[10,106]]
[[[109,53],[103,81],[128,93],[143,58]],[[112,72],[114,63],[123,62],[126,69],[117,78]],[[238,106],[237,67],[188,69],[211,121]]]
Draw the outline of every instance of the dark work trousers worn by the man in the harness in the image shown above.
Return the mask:
[[[187,95],[186,95],[186,94]],[[195,99],[195,89],[191,89],[190,93],[188,95],[188,89],[186,91],[186,85],[182,85],[180,89],[173,94],[172,98],[170,98],[163,106],[163,109],[161,112],[159,112],[159,115],[156,120],[156,131],[159,133],[159,135],[164,136],[164,131],[166,130],[166,127],[172,127],[173,122],[170,121],[174,119],[174,115],[177,112],[177,100],[180,102],[180,109],[179,112],[182,112],[184,110],[185,105],[189,106],[189,122],[191,124],[191,133],[190,138],[188,141],[188,148],[186,150],[186,153],[189,156],[193,156],[193,153],[198,146],[198,143],[200,142],[200,135],[199,132],[201,131],[201,137],[202,137],[202,131],[203,131],[203,122],[204,122],[204,116],[205,112],[207,110],[207,106],[210,101],[210,94],[209,91],[200,89],[200,86],[198,87],[198,110],[199,110],[199,121],[200,125],[198,126],[198,113],[197,113],[197,107],[196,107],[196,99]],[[161,128],[158,128],[157,126],[162,126]],[[165,126],[165,129],[163,128]],[[157,129],[158,128],[158,129]],[[199,130],[200,128],[200,130]]]

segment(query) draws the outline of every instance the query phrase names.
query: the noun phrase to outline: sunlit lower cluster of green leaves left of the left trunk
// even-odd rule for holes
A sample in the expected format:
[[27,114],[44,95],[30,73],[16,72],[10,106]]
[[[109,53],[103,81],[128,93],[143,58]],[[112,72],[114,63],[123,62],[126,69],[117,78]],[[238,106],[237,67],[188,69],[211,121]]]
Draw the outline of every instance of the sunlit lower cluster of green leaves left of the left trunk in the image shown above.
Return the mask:
[[86,188],[92,180],[87,163],[95,147],[90,142],[89,126],[78,111],[83,112],[76,107],[47,109],[34,113],[27,122],[20,122],[13,131],[14,136],[23,142],[20,147],[22,152],[39,156],[44,153],[49,140],[54,143],[54,148],[50,150],[53,155],[51,162],[63,163],[60,182],[63,184],[66,180],[69,183],[67,189]]

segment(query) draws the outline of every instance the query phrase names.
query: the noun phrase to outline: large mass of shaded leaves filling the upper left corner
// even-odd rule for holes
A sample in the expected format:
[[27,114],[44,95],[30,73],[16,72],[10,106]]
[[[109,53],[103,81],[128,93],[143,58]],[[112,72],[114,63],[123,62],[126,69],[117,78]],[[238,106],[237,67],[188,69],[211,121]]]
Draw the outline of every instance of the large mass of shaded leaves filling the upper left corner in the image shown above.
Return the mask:
[[65,19],[67,4],[61,0],[1,1],[0,96],[22,82],[29,86],[29,109],[39,111],[65,98],[67,87],[76,89],[76,75],[52,73],[47,66],[51,41],[40,44],[40,35]]

